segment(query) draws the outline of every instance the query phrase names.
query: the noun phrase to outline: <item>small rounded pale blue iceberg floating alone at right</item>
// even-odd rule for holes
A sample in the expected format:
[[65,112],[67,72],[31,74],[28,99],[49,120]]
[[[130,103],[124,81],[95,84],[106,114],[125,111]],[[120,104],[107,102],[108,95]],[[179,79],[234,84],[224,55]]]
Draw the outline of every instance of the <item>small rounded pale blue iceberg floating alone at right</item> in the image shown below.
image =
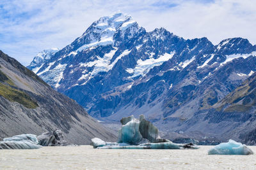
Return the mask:
[[242,143],[229,139],[227,143],[221,143],[208,151],[208,155],[251,155],[253,151]]

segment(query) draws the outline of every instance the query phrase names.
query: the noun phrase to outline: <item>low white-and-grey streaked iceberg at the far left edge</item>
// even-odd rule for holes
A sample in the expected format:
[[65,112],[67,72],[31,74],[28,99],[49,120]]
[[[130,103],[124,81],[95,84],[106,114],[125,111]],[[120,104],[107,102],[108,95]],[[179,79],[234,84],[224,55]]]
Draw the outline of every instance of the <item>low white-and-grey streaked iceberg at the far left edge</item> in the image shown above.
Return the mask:
[[38,149],[41,147],[38,145],[35,134],[20,134],[0,141],[0,149]]

